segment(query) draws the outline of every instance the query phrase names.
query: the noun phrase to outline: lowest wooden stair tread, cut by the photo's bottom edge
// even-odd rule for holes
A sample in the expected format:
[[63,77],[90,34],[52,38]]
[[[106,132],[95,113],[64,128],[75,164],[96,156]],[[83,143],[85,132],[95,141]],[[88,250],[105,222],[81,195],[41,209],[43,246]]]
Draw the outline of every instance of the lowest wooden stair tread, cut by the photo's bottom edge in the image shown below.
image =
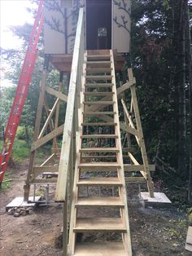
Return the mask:
[[74,256],[127,256],[123,242],[77,243]]

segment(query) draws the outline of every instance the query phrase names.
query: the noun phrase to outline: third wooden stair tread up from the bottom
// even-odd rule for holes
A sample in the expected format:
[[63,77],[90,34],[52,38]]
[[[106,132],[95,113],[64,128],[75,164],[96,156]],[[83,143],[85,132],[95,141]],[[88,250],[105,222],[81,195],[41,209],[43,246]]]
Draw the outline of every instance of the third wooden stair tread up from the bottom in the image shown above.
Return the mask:
[[89,196],[79,197],[76,207],[120,207],[124,208],[124,203],[120,201],[119,196]]

